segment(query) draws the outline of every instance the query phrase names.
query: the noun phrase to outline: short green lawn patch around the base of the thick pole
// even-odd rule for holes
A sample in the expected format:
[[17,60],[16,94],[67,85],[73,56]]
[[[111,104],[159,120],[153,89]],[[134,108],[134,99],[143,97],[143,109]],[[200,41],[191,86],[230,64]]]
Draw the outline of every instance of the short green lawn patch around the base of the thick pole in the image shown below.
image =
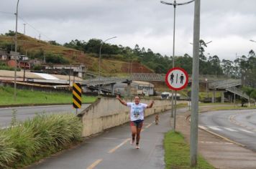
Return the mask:
[[[165,168],[186,169],[190,167],[189,146],[179,132],[167,132],[164,140]],[[198,155],[198,169],[214,169],[201,155]]]

